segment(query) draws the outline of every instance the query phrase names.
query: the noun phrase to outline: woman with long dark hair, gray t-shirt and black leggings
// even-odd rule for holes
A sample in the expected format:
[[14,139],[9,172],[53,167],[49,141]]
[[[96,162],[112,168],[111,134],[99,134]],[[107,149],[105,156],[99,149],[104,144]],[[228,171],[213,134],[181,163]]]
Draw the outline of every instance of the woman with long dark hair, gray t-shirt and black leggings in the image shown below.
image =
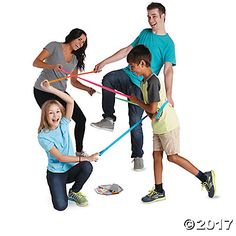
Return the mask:
[[[71,30],[66,36],[65,42],[53,41],[43,48],[42,52],[33,62],[33,66],[43,69],[34,84],[34,97],[40,107],[42,107],[45,101],[51,99],[58,100],[66,107],[66,103],[61,98],[43,91],[40,84],[45,79],[50,82],[51,80],[67,76],[65,71],[69,71],[71,74],[78,74],[78,71],[83,71],[86,48],[87,35],[78,28]],[[94,89],[80,83],[76,77],[71,77],[71,84],[78,89],[88,92],[90,95],[93,95],[95,92]],[[67,93],[67,79],[52,83],[52,86]],[[78,156],[87,156],[86,152],[83,151],[86,118],[76,102],[74,102],[72,119],[75,121],[76,154]]]

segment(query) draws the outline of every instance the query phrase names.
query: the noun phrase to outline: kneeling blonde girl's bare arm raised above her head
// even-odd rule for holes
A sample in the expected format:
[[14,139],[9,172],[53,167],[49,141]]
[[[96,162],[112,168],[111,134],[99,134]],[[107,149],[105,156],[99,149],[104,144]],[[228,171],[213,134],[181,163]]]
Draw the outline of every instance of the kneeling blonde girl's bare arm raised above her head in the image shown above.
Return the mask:
[[74,110],[74,100],[71,96],[69,96],[67,93],[64,93],[54,87],[52,87],[48,80],[44,80],[41,83],[41,87],[48,93],[53,93],[56,96],[60,97],[62,100],[64,100],[66,102],[66,114],[65,117],[67,119],[71,119],[72,114],[73,114],[73,110]]

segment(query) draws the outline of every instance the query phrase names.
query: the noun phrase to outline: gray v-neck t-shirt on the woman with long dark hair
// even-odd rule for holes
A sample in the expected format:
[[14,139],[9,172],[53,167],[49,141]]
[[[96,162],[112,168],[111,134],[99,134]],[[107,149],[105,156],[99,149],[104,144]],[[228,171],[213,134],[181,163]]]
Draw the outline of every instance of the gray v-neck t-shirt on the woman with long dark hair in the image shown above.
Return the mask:
[[[63,50],[62,50],[62,43],[51,42],[46,47],[44,47],[44,49],[46,49],[49,52],[49,56],[45,59],[45,63],[47,63],[47,64],[61,64],[63,69],[68,72],[72,72],[75,69],[75,67],[78,63],[78,60],[77,60],[76,56],[73,55],[71,62],[65,61]],[[62,78],[65,76],[67,76],[67,74],[65,74],[61,71],[52,70],[52,69],[43,69],[41,74],[39,75],[38,79],[36,80],[34,87],[36,89],[43,91],[43,89],[40,86],[40,83],[43,80],[47,79],[50,81],[50,80]],[[52,86],[61,90],[61,91],[65,91],[66,87],[67,87],[67,79],[56,82],[56,83],[52,83]]]

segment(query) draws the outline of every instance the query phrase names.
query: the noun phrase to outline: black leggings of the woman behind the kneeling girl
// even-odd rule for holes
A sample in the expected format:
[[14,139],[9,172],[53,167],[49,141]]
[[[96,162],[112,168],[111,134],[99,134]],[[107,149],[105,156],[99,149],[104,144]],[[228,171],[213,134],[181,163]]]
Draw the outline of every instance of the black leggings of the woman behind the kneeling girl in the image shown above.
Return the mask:
[[[34,88],[34,97],[38,105],[40,106],[40,108],[42,107],[44,102],[51,99],[53,100],[55,99],[59,101],[64,107],[66,107],[66,102],[63,101],[58,96],[41,91],[36,88]],[[85,132],[86,117],[84,116],[83,112],[81,111],[81,109],[79,108],[76,102],[74,102],[74,111],[73,111],[72,119],[75,122],[74,135],[75,135],[76,151],[81,152],[83,150],[83,139],[84,139],[84,132]]]

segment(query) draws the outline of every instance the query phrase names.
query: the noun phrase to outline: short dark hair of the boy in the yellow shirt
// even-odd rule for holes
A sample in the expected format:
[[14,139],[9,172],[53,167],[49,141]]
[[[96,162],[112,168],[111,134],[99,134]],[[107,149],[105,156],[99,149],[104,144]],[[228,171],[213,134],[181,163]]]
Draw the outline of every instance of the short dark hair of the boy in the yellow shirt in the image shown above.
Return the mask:
[[137,45],[127,55],[128,63],[139,64],[141,60],[144,60],[147,66],[151,64],[152,55],[147,47],[143,44]]

